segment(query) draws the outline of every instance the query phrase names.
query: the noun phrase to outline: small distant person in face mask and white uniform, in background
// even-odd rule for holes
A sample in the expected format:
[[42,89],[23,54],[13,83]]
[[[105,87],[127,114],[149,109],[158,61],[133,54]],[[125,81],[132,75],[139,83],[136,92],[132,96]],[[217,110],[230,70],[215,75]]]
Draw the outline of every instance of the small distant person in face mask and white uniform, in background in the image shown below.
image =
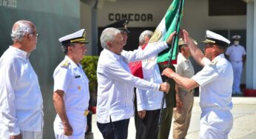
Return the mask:
[[239,44],[240,35],[233,35],[234,44],[227,48],[226,58],[232,64],[234,70],[234,82],[232,95],[242,95],[240,92],[240,80],[243,72],[243,65],[246,62],[246,50]]

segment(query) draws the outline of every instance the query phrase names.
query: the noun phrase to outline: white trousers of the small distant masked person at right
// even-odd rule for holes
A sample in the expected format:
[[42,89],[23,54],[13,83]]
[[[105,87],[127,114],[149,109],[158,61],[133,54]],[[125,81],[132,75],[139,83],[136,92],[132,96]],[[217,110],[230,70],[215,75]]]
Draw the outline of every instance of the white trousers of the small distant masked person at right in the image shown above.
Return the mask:
[[243,72],[243,62],[231,62],[233,73],[234,73],[234,81],[233,81],[233,91],[240,92],[240,82]]

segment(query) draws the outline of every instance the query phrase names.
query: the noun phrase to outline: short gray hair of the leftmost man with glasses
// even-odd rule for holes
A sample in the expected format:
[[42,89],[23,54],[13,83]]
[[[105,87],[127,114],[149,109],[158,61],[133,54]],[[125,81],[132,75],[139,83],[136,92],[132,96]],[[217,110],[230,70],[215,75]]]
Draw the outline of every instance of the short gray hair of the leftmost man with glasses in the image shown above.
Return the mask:
[[20,20],[13,24],[13,30],[10,36],[13,41],[22,41],[26,33],[32,33],[33,26],[30,21]]

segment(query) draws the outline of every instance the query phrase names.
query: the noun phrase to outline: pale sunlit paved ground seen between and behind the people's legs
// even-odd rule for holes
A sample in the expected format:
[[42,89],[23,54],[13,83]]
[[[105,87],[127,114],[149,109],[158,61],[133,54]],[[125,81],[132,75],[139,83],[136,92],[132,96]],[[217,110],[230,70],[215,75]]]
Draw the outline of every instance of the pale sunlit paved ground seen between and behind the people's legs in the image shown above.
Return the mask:
[[[229,134],[230,139],[256,139],[256,98],[233,97],[232,114],[234,117],[234,126]],[[195,103],[192,110],[192,120],[189,127],[187,138],[198,138],[199,121],[201,109],[198,104],[198,97],[195,97]],[[96,125],[96,116],[92,116],[92,132],[95,139],[102,139],[101,132]],[[169,139],[172,138],[172,129]],[[128,139],[135,139],[134,118],[130,119]]]

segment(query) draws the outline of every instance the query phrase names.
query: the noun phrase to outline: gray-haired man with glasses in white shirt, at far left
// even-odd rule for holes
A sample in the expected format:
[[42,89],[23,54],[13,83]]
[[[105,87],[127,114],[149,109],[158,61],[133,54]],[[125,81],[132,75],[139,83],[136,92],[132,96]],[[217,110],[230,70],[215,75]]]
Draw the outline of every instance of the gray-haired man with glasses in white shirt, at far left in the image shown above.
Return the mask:
[[11,45],[0,58],[0,138],[41,139],[43,99],[29,61],[38,33],[30,21],[13,24]]

